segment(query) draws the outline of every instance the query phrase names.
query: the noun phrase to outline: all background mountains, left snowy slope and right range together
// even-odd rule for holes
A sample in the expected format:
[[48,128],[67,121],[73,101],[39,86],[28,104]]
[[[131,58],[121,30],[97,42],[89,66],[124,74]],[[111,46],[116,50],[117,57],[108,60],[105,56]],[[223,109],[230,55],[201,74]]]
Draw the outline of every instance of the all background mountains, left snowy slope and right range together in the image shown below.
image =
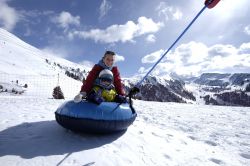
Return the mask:
[[[51,97],[52,89],[60,85],[66,98],[72,98],[79,92],[81,82],[90,70],[86,66],[39,50],[1,28],[0,50],[0,92],[3,93],[36,95],[38,89],[43,89],[46,92],[42,96]],[[122,79],[127,93],[141,78],[136,76]],[[204,73],[189,79],[173,73],[161,77],[148,76],[135,98],[145,101],[250,106],[249,80],[250,73]]]

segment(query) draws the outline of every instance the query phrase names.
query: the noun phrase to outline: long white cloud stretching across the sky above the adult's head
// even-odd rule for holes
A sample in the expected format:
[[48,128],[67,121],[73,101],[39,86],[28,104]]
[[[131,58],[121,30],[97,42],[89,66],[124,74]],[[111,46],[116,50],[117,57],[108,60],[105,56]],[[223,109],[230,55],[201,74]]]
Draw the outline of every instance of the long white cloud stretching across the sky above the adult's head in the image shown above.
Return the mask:
[[68,37],[73,39],[74,37],[80,37],[84,39],[92,39],[95,42],[102,43],[115,43],[115,42],[133,42],[135,37],[155,33],[159,31],[164,24],[161,22],[154,22],[150,18],[139,17],[138,23],[128,21],[123,25],[111,25],[106,29],[91,29],[89,31],[72,31],[68,34]]

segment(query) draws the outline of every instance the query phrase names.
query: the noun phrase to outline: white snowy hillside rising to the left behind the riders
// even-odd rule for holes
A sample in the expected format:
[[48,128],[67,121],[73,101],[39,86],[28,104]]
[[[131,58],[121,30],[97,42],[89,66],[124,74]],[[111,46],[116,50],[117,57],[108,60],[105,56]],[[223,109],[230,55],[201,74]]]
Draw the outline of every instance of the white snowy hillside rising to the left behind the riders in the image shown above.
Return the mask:
[[[28,84],[24,95],[52,97],[58,84],[66,98],[72,98],[80,90],[81,82],[65,75],[65,70],[53,65],[89,70],[81,65],[47,54],[0,28],[0,83],[8,88],[20,88]],[[46,60],[49,63],[46,63]],[[59,74],[59,75],[58,75]],[[59,77],[58,77],[59,76]],[[16,81],[18,80],[18,85]]]

